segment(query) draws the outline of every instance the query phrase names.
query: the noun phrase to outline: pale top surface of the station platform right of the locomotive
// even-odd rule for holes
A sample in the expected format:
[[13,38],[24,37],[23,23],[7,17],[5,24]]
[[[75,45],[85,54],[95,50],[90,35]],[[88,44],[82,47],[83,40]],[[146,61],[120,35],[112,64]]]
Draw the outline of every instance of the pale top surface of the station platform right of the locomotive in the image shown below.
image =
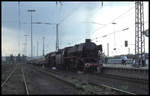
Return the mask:
[[103,64],[104,67],[112,67],[112,68],[132,68],[132,69],[149,69],[149,65],[146,65],[145,67],[133,67],[131,64],[126,64],[126,65],[122,65],[122,64]]

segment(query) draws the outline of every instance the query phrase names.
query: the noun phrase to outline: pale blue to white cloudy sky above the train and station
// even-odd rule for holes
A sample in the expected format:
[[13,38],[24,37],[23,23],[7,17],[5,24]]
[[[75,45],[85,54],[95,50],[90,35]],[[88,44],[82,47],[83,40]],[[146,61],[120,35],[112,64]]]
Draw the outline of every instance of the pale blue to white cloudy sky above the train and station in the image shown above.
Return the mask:
[[[32,24],[33,56],[42,55],[43,37],[45,54],[56,50],[56,25],[59,32],[59,48],[73,46],[90,38],[97,45],[103,45],[103,52],[109,56],[135,52],[135,2],[2,2],[2,56],[26,54],[25,36],[31,34],[31,13],[33,22],[54,23]],[[148,2],[144,2],[144,28],[148,28]],[[19,20],[21,22],[19,27]],[[112,23],[116,24],[112,24]],[[128,30],[124,30],[128,28]],[[124,46],[124,41],[129,43]],[[148,50],[145,37],[145,51]],[[27,37],[27,56],[31,55],[31,38]],[[20,46],[20,47],[19,47]],[[116,51],[113,50],[116,48]]]

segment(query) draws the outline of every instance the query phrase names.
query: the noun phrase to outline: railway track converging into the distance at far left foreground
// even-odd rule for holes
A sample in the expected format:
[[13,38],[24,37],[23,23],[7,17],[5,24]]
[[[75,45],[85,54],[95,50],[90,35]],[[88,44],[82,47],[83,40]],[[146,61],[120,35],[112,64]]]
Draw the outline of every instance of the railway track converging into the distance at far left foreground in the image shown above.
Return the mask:
[[[20,78],[16,78],[16,76],[19,76],[20,77],[20,74],[17,73],[17,71],[19,71],[20,73],[20,70],[21,70],[21,82],[18,83],[19,84],[19,87],[21,89],[19,89],[19,87],[16,84],[16,81],[14,82],[15,79],[19,80]],[[16,74],[15,74],[16,73]],[[13,80],[14,79],[14,80]],[[22,81],[23,81],[23,85],[24,87],[22,86]],[[14,82],[15,84],[13,84],[12,82]],[[19,81],[18,81],[19,82]],[[15,94],[27,94],[29,95],[29,89],[27,87],[27,83],[26,83],[26,79],[25,79],[25,75],[24,75],[24,70],[23,70],[23,67],[21,67],[21,65],[16,65],[16,68],[7,76],[7,78],[4,80],[4,82],[1,84],[1,88],[3,88],[5,91],[6,91],[6,94],[7,94],[7,91],[9,90],[10,91],[10,87],[12,88],[13,86],[13,90],[15,89],[14,87],[18,87],[18,90],[15,90]],[[24,90],[25,89],[25,93],[24,91],[20,91],[20,90]],[[9,92],[8,91],[8,92]],[[13,91],[11,91],[13,92]],[[20,93],[19,93],[20,92]],[[23,93],[22,93],[23,92]],[[8,93],[8,94],[13,94],[13,93]]]

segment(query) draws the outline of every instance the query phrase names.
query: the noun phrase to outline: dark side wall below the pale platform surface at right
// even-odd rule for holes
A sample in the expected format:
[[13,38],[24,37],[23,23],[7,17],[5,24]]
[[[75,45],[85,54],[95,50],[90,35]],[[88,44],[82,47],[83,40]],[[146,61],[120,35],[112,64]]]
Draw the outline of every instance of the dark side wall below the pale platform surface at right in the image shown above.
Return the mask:
[[110,66],[104,66],[102,73],[103,74],[110,74],[110,75],[116,75],[116,76],[122,76],[122,77],[126,77],[126,78],[133,78],[136,80],[148,80],[149,78],[149,70],[148,69],[136,69],[136,68],[132,68],[132,67],[110,67]]

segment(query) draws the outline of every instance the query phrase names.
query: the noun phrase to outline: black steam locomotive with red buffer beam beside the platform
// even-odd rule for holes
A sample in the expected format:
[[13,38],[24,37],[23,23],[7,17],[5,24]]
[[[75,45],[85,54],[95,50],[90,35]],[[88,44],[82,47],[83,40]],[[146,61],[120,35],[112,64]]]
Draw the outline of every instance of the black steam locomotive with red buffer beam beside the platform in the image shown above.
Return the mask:
[[60,49],[45,56],[47,66],[71,71],[97,71],[102,45],[86,39],[85,43]]

